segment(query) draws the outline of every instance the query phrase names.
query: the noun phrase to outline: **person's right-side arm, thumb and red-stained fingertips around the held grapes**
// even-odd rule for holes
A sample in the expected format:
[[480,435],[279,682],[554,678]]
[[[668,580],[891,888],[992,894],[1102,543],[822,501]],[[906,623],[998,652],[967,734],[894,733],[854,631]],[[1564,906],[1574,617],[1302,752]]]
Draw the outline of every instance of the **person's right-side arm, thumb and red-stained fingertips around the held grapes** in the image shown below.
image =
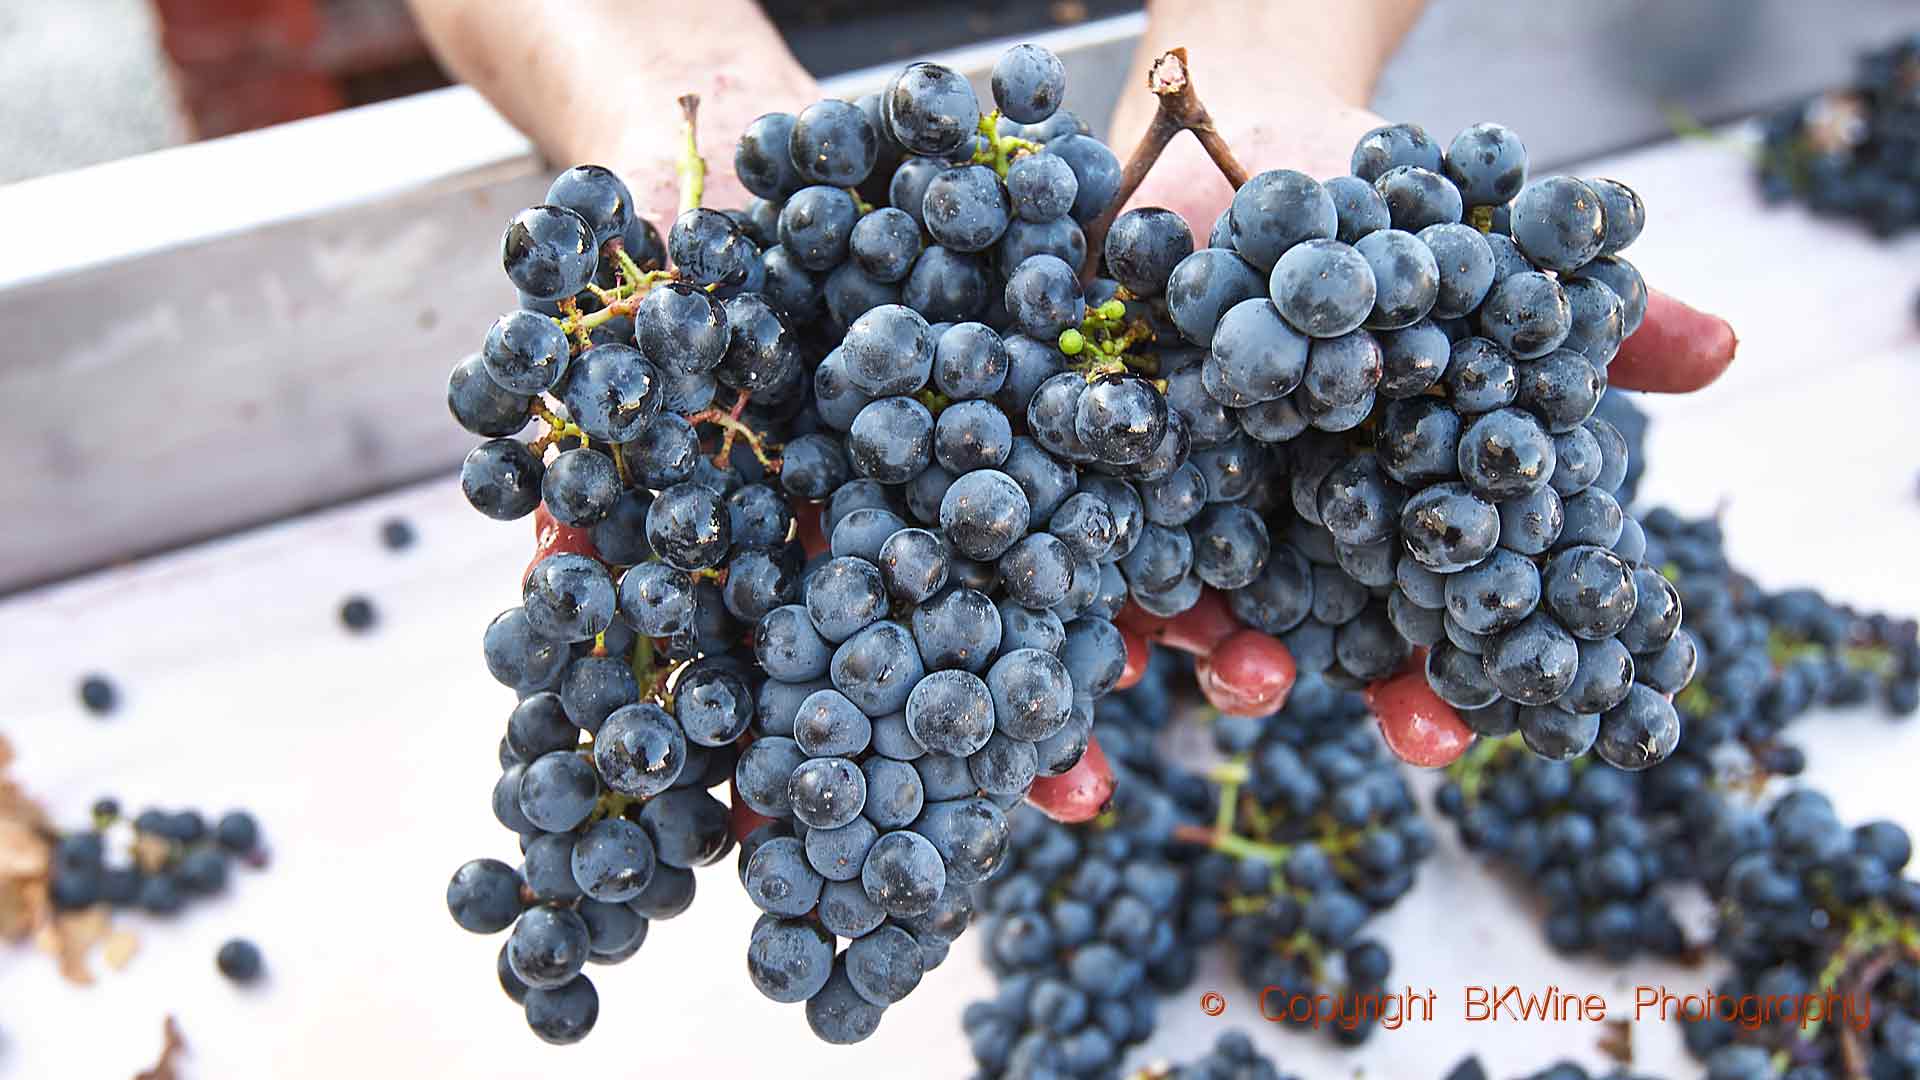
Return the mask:
[[[1244,173],[1284,167],[1311,177],[1342,177],[1350,167],[1361,171],[1354,146],[1384,125],[1354,102],[1371,96],[1384,58],[1415,12],[1417,4],[1392,0],[1308,17],[1284,4],[1265,10],[1204,0],[1158,4],[1137,67],[1148,69],[1164,48],[1181,46],[1194,67],[1208,73],[1208,119]],[[1256,33],[1248,19],[1273,23],[1271,33]],[[1283,63],[1292,71],[1281,77],[1273,75],[1275,61],[1286,56],[1275,56],[1275,48],[1292,52],[1294,63]],[[1123,96],[1112,121],[1116,146],[1135,144],[1154,121],[1154,110],[1150,96]],[[1432,150],[1436,160],[1440,150],[1446,148]],[[1208,236],[1223,227],[1235,196],[1225,173],[1200,140],[1175,138],[1144,175],[1129,208],[1175,209],[1196,238]],[[1511,198],[1513,192],[1503,194]],[[1697,390],[1732,361],[1736,340],[1722,319],[1653,290],[1645,290],[1642,302],[1644,321],[1605,365],[1613,384]],[[1213,590],[1171,621],[1135,605],[1121,623],[1129,675],[1144,669],[1150,644],[1192,651],[1202,690],[1225,713],[1271,713],[1292,686],[1296,665],[1288,650],[1273,636],[1240,626]],[[1473,730],[1428,686],[1425,661],[1427,650],[1415,648],[1396,675],[1375,678],[1367,696],[1400,757],[1415,765],[1444,765],[1467,748]]]

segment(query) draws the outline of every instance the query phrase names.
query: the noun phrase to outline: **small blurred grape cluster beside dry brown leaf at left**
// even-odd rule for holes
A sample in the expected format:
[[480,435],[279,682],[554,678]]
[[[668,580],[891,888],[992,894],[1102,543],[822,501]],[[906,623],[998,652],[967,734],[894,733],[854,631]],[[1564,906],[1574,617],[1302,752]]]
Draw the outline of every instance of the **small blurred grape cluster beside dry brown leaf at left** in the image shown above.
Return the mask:
[[90,828],[54,838],[48,896],[60,911],[98,903],[175,915],[196,897],[227,890],[232,863],[265,863],[259,824],[227,811],[211,824],[200,811],[144,809],[131,822],[119,801],[94,803]]

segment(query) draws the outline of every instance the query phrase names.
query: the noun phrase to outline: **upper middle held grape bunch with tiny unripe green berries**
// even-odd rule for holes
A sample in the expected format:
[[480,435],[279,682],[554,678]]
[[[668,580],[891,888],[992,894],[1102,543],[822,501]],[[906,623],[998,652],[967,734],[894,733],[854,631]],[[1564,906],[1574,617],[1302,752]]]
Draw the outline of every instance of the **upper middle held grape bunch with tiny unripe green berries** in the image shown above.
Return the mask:
[[[839,521],[885,488],[902,521],[968,534],[952,546],[987,563],[975,580],[1012,557],[1000,584],[1064,621],[1127,598],[1175,615],[1204,584],[1244,586],[1267,536],[1238,502],[1263,454],[1194,432],[1179,407],[1198,354],[1164,292],[1192,233],[1135,209],[1089,252],[1117,158],[1058,108],[1046,50],[1010,50],[993,86],[983,115],[966,79],[916,63],[877,96],[760,117],[741,138],[768,290],[835,344],[814,369],[820,430],[787,448],[787,490],[831,498]],[[826,131],[874,150],[822,173]],[[1100,273],[1083,284],[1083,267]]]

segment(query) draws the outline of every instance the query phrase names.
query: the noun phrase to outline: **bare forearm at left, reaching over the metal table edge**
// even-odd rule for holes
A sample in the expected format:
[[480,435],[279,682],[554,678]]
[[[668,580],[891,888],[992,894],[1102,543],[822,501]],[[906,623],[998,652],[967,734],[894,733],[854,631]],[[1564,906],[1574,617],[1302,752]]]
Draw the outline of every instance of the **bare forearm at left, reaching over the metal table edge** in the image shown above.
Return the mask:
[[445,65],[549,161],[622,173],[641,213],[676,204],[680,94],[701,96],[707,202],[737,206],[733,138],[753,117],[818,96],[753,0],[674,8],[632,0],[413,0]]

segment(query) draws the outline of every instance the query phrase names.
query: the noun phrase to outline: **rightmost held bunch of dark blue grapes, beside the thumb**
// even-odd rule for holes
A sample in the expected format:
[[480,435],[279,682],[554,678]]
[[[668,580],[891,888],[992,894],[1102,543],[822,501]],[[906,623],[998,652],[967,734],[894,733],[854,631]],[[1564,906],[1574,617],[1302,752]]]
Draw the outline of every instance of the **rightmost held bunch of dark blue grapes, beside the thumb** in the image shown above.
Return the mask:
[[[1645,313],[1640,198],[1526,183],[1507,129],[1367,133],[1354,175],[1250,179],[1167,286],[1206,346],[1210,430],[1284,454],[1292,521],[1229,596],[1302,669],[1361,684],[1427,650],[1434,692],[1542,757],[1644,769],[1678,744],[1672,586],[1620,509],[1594,411]],[[1185,400],[1185,398],[1183,398]]]

